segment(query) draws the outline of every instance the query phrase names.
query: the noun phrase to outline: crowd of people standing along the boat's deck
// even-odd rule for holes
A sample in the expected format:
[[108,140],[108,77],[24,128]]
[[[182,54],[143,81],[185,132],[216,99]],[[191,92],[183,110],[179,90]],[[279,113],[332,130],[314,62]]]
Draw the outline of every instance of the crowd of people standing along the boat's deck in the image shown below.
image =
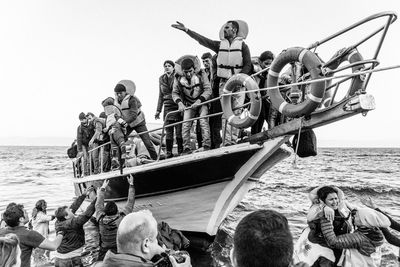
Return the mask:
[[[176,61],[165,60],[163,63],[164,74],[159,77],[155,119],[160,119],[163,112],[165,154],[157,154],[155,145],[158,144],[152,143],[154,138],[147,132],[134,82],[122,80],[114,88],[115,97],[102,102],[104,112],[98,117],[91,112],[79,114],[81,124],[77,130],[76,158],[83,160],[77,164],[78,176],[127,166],[127,147],[131,143],[130,137],[136,134],[147,150],[145,163],[233,145],[238,142],[240,133],[245,135],[244,131],[228,123],[229,118],[222,114],[219,97],[230,77],[237,73],[252,75],[268,69],[274,54],[265,51],[251,58],[250,49],[244,42],[248,28],[243,21],[228,21],[221,29],[221,41],[210,40],[179,22],[172,27],[186,32],[215,54],[205,52],[201,56],[203,68],[195,55],[185,55]],[[254,77],[260,88],[266,87],[267,74],[268,71],[264,71]],[[262,91],[261,95],[261,113],[251,127],[251,134],[261,132],[265,122],[269,128],[283,122],[283,116],[270,105],[266,91]],[[217,101],[210,101],[212,99]],[[243,107],[246,101],[245,94],[232,97],[233,107]],[[242,111],[243,108],[237,108],[234,114],[239,115]],[[159,145],[164,145],[164,137],[160,139]],[[102,152],[99,146],[103,147]]]

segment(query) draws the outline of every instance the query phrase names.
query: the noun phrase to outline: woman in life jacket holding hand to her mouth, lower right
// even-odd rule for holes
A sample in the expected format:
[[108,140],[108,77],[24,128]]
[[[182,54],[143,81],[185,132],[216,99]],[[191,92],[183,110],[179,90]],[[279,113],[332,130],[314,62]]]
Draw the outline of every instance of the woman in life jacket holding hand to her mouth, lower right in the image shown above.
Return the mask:
[[344,194],[336,187],[324,186],[311,191],[310,199],[314,204],[307,215],[310,227],[308,240],[311,243],[332,249],[334,256],[322,253],[312,266],[335,266],[342,254],[342,249],[327,244],[326,236],[321,228],[321,222],[323,219],[327,220],[332,225],[336,235],[346,234],[351,231],[351,224],[348,221],[349,210],[344,202]]

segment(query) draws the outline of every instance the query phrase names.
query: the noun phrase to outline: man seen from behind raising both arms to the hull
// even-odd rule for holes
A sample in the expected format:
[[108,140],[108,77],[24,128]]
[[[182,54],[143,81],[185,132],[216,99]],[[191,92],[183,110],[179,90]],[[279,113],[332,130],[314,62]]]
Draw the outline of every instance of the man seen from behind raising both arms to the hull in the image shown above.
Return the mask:
[[100,251],[98,260],[102,261],[106,252],[111,250],[117,253],[117,230],[125,215],[133,210],[135,205],[135,186],[132,175],[127,177],[129,183],[128,201],[122,211],[118,211],[114,201],[107,202],[104,207],[104,196],[108,186],[108,180],[104,180],[103,185],[97,191],[96,217],[99,222]]

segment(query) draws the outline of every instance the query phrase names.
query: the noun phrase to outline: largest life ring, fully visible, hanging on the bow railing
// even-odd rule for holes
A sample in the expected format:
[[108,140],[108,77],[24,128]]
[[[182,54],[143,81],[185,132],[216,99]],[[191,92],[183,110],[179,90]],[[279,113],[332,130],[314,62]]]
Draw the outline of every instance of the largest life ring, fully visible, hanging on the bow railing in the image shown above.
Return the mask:
[[[279,73],[286,64],[293,61],[303,64],[309,71],[312,80],[323,77],[320,68],[322,63],[317,55],[305,48],[292,47],[280,53],[272,62],[268,72],[267,87],[277,86]],[[295,118],[309,115],[313,112],[322,102],[325,88],[324,81],[312,83],[310,85],[310,93],[307,95],[308,98],[297,105],[286,102],[279,89],[268,90],[268,95],[272,105],[279,110],[280,113],[287,117]]]

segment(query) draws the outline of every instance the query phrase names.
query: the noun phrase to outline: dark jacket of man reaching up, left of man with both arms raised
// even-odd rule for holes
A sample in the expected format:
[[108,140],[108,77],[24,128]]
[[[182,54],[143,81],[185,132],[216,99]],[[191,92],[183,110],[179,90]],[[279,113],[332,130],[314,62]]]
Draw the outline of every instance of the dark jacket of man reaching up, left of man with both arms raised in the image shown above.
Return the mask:
[[[85,197],[86,195],[81,195],[74,201],[74,203],[72,203],[70,209],[73,213],[78,210],[82,202],[85,200]],[[78,216],[64,221],[56,221],[56,232],[61,231],[64,233],[61,244],[57,248],[58,253],[69,253],[85,245],[85,231],[83,230],[83,225],[89,221],[94,214],[95,203],[96,200],[93,200],[87,207],[86,211]]]

